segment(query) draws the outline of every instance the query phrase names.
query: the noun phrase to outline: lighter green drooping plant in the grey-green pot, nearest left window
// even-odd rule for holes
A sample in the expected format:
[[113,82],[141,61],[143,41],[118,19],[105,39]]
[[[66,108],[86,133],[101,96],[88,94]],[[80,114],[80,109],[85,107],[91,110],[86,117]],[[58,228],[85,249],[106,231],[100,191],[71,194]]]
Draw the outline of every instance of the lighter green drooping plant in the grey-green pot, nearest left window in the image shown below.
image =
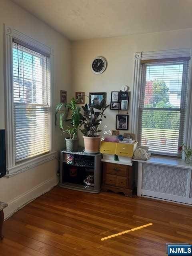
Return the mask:
[[[76,105],[76,100],[72,98],[70,104],[67,103],[59,103],[56,106],[55,117],[59,114],[59,127],[62,131],[62,134],[68,134],[69,137],[65,138],[66,140],[66,151],[75,152],[78,148],[78,127],[80,125],[81,114],[80,107]],[[65,109],[63,109],[63,107]],[[70,118],[65,118],[66,116],[66,108],[70,110]],[[67,112],[68,113],[68,112]],[[56,118],[55,118],[56,120]],[[70,121],[71,126],[66,126],[64,129],[64,122]]]

